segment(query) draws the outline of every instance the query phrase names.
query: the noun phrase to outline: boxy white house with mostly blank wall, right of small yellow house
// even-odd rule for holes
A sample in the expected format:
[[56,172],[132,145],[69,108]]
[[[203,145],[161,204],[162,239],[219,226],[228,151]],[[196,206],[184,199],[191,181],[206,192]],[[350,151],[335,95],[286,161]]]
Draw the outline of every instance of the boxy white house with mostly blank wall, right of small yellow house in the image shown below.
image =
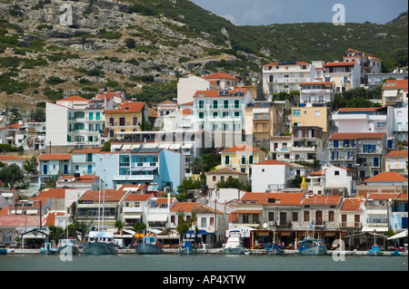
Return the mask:
[[282,191],[291,177],[292,167],[276,159],[267,159],[252,165],[252,191]]

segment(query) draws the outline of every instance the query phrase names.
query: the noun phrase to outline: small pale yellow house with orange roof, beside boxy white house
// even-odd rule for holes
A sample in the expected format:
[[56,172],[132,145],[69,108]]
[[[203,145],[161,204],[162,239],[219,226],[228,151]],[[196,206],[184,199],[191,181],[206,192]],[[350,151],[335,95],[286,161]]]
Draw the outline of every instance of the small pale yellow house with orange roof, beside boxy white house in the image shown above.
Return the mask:
[[265,159],[265,152],[255,149],[247,144],[235,145],[232,148],[224,149],[220,152],[222,155],[221,168],[236,169],[244,172],[248,178],[252,176],[252,164]]

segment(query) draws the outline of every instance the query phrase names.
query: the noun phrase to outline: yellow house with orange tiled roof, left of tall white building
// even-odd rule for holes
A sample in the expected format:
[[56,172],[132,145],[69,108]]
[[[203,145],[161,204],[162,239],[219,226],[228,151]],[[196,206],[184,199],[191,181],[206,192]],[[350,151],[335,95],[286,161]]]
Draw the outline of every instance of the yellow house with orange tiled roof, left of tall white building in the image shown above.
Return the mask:
[[141,131],[142,119],[147,121],[149,114],[152,111],[145,102],[125,102],[118,110],[104,111],[108,136],[114,138],[118,132]]

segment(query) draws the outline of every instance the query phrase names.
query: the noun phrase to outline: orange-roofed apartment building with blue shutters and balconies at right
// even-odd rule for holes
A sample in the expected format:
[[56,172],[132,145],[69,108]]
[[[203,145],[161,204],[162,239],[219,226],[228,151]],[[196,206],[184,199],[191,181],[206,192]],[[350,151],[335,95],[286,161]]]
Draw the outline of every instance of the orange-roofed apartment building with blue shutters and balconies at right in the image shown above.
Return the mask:
[[386,133],[335,132],[328,139],[330,164],[357,169],[360,178],[373,177],[384,171]]

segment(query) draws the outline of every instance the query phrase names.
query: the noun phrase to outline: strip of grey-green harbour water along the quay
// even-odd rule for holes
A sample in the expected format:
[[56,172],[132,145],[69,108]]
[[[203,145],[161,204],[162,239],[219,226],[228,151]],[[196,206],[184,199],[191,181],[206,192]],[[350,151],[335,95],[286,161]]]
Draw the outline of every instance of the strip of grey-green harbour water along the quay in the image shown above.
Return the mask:
[[[38,252],[38,251],[37,251]],[[135,252],[135,251],[134,251]],[[260,253],[260,254],[257,254]],[[137,255],[119,251],[117,255],[74,255],[61,259],[59,255],[39,255],[20,252],[0,257],[1,271],[145,271],[165,272],[243,272],[243,271],[407,271],[408,257],[344,255],[266,255],[252,252],[244,255],[224,255],[218,251],[196,255],[164,252],[160,255]]]

